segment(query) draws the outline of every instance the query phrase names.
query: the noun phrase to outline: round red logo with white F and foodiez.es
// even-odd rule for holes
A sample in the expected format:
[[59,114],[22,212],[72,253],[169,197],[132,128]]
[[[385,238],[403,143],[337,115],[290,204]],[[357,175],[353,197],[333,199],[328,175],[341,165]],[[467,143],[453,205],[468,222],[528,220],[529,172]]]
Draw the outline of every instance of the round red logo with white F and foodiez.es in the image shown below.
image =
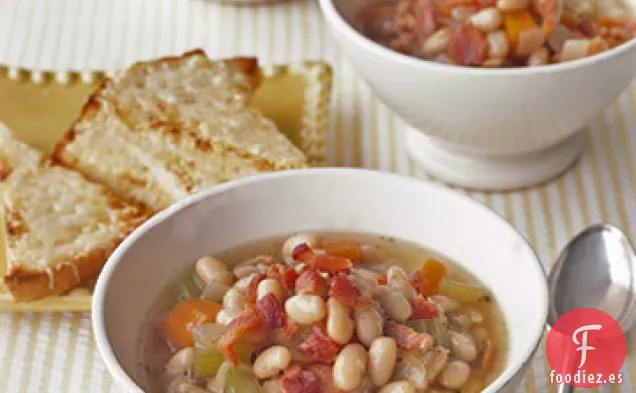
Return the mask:
[[622,383],[626,353],[625,335],[612,317],[594,308],[572,310],[548,333],[550,382],[578,388]]

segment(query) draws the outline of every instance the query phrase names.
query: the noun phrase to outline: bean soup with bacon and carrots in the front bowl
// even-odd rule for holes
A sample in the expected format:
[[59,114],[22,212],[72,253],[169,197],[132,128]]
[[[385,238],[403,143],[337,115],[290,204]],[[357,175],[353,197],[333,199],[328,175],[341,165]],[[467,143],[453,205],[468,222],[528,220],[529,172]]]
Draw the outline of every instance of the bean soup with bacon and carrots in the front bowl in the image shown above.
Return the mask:
[[139,345],[153,393],[477,393],[505,367],[488,288],[376,235],[295,234],[203,256]]

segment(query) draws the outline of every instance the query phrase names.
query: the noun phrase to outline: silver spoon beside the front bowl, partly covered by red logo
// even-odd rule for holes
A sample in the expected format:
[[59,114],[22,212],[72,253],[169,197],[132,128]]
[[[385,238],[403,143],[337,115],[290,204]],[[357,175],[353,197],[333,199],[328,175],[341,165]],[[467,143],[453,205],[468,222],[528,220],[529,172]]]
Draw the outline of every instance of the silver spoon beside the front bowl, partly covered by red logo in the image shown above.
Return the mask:
[[[577,308],[596,308],[627,332],[636,321],[636,254],[620,229],[592,225],[561,251],[548,276],[548,325]],[[574,387],[559,385],[559,393]]]

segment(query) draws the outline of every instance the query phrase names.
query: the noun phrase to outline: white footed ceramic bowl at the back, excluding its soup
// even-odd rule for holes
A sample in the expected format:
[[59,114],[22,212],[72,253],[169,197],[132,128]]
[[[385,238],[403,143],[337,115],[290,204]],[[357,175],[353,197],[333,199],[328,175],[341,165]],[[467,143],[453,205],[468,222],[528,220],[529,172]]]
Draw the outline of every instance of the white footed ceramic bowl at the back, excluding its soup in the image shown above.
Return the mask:
[[520,188],[563,172],[581,151],[581,129],[636,74],[636,40],[543,67],[469,68],[420,60],[376,44],[350,25],[371,1],[377,0],[320,5],[354,69],[412,127],[406,142],[416,162],[464,187]]

